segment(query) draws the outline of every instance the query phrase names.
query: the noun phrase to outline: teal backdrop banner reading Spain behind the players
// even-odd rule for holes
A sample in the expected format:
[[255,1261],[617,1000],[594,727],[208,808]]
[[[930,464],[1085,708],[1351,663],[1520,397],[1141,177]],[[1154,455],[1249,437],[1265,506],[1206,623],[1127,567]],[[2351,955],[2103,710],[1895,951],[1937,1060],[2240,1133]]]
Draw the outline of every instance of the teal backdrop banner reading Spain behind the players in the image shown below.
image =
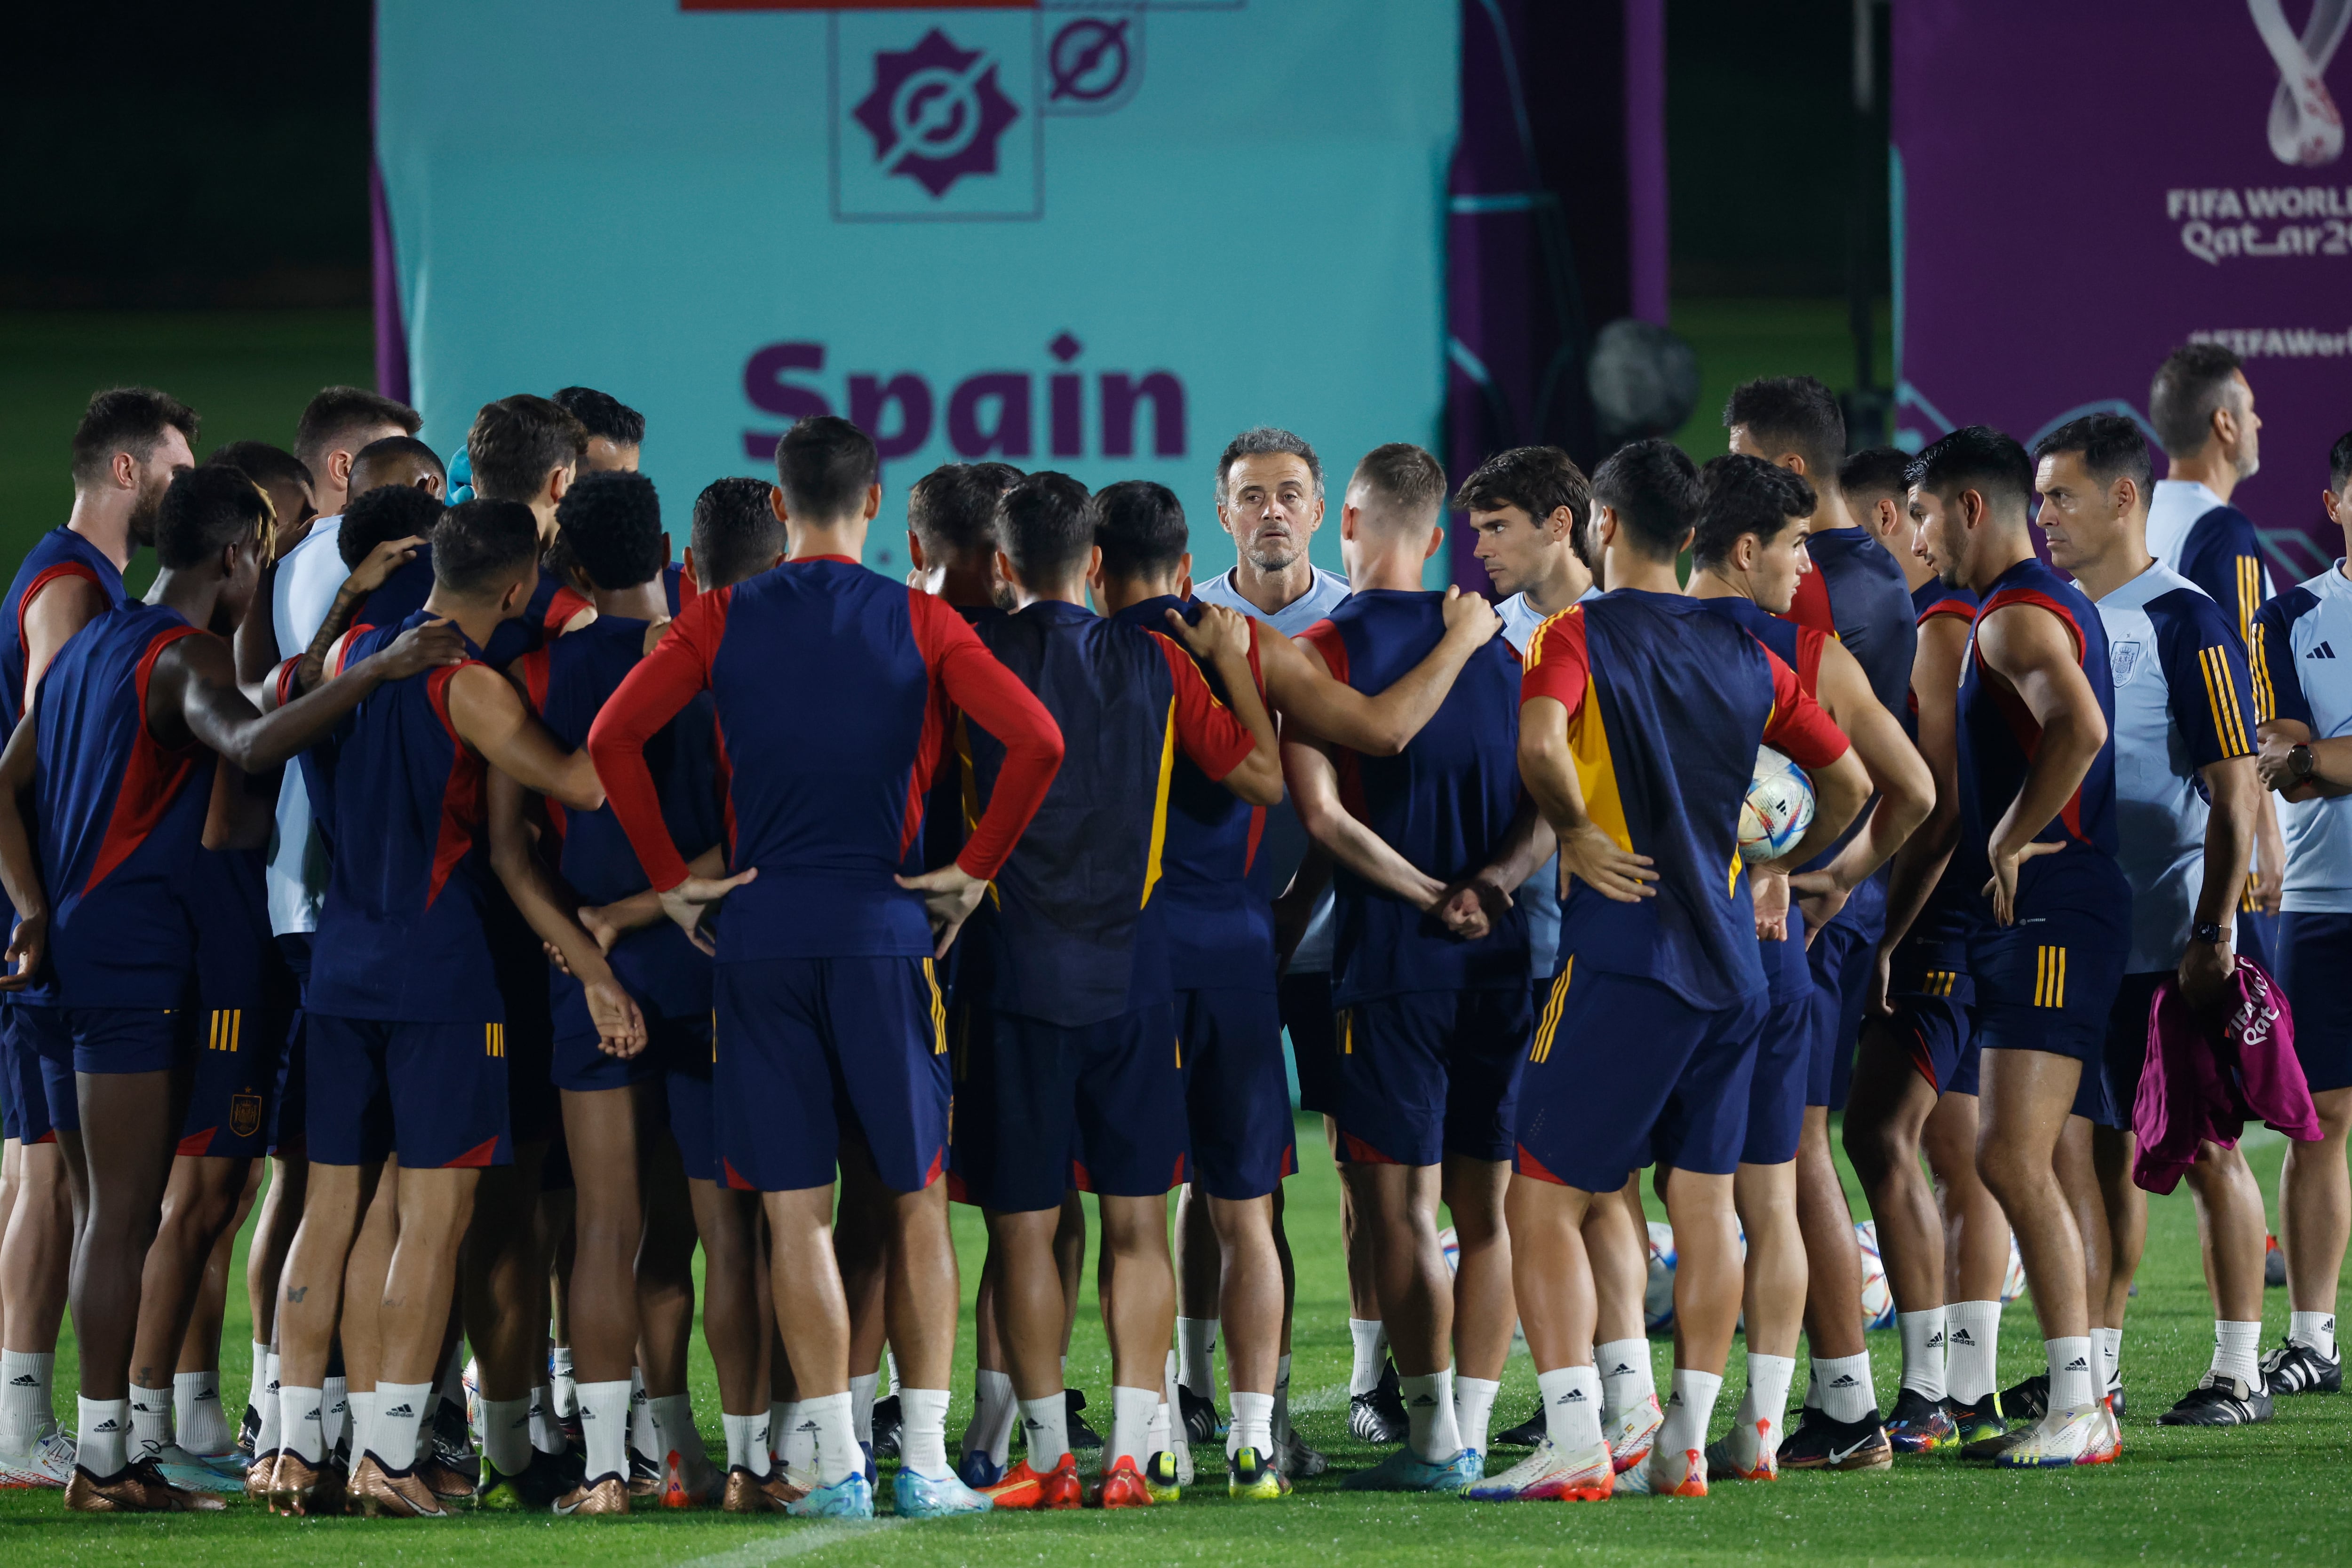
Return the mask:
[[1002,458],[1169,484],[1209,576],[1216,454],[1282,423],[1336,567],[1355,458],[1444,451],[1458,49],[1451,0],[381,5],[386,350],[440,449],[517,390],[642,409],[680,541],[847,414],[891,574],[906,484]]

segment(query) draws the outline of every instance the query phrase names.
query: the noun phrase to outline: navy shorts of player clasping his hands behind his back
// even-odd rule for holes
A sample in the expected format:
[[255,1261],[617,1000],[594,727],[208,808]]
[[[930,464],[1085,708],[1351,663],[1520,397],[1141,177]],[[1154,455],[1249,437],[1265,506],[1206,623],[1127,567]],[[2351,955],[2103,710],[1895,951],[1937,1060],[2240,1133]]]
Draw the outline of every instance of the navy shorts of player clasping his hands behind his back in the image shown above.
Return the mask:
[[1338,1009],[1341,1159],[1510,1159],[1534,1013],[1519,985],[1404,992]]

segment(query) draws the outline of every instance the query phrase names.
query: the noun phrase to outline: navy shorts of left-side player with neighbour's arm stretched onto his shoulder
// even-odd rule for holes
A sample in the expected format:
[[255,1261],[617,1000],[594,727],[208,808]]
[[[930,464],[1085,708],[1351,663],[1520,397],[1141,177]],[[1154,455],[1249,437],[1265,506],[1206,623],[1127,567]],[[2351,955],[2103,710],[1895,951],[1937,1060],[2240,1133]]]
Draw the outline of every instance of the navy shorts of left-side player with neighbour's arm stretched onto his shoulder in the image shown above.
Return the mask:
[[506,1166],[503,1023],[383,1023],[310,1013],[310,1159],[414,1171]]

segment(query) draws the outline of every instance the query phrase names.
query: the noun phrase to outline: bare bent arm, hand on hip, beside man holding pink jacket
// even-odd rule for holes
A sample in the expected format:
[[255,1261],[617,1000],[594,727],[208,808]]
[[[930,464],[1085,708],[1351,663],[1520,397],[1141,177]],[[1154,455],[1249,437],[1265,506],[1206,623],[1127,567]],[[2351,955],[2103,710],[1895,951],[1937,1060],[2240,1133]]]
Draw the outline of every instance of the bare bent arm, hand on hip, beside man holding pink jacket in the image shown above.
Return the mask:
[[2018,865],[2053,853],[2056,844],[2034,837],[2058,818],[2082,788],[2098,748],[2107,741],[2107,715],[2074,656],[2074,637],[2065,623],[2039,604],[2004,604],[1976,623],[1976,654],[1985,672],[2016,691],[2042,726],[2042,743],[2025,771],[2025,788],[2002,811],[1985,853],[1992,860],[1992,917],[2013,926],[2018,919]]

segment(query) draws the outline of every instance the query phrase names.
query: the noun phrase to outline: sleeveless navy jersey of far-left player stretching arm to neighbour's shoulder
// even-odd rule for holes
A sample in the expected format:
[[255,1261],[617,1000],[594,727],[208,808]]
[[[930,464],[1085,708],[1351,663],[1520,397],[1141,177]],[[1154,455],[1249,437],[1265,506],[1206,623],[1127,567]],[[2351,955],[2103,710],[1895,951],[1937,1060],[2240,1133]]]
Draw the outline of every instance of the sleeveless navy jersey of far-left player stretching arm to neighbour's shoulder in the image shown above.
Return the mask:
[[212,750],[148,733],[155,661],[200,628],[125,604],[66,639],[33,722],[40,879],[59,1006],[179,1006],[195,964],[188,879],[212,804]]

